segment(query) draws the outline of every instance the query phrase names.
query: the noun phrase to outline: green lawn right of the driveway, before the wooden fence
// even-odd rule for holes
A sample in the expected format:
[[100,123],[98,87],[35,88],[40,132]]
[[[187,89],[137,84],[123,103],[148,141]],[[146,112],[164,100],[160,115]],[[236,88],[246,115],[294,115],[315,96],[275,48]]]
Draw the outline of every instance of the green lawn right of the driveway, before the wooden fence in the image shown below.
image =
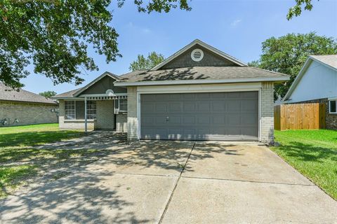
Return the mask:
[[275,131],[272,151],[337,200],[337,131]]

